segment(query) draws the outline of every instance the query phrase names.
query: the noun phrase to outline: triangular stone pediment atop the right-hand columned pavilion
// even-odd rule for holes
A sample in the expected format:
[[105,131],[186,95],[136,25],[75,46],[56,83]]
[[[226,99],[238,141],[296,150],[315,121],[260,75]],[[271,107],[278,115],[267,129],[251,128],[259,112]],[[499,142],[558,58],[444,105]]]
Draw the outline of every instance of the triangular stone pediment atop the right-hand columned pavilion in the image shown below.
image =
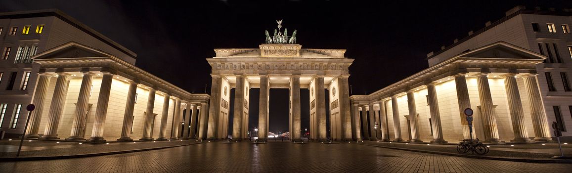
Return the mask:
[[461,58],[498,58],[498,59],[545,59],[543,55],[533,53],[531,51],[522,49],[508,43],[499,42],[489,46],[484,46],[482,49],[469,51]]

